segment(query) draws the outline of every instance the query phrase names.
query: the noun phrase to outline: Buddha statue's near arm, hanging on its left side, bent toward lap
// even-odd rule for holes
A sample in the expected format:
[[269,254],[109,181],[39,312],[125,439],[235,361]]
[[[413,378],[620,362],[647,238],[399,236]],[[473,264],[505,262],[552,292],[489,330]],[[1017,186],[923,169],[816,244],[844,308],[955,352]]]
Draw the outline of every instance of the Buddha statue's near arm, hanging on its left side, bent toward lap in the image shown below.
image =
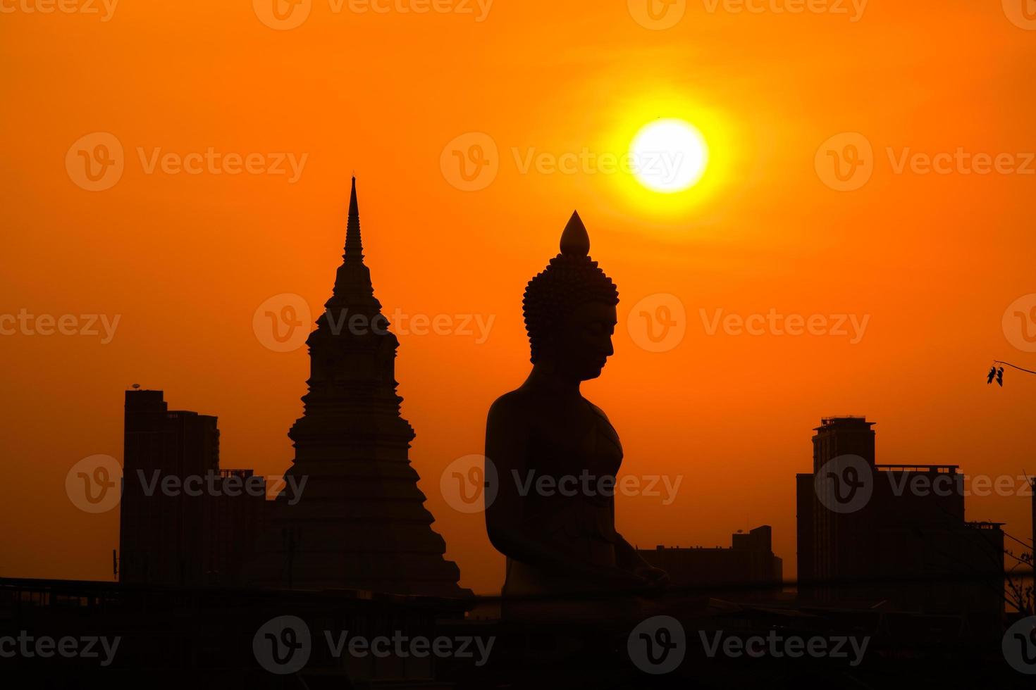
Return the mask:
[[524,476],[530,426],[520,403],[501,398],[493,403],[486,425],[486,457],[497,473],[497,493],[486,508],[486,530],[493,546],[510,559],[559,576],[583,577],[615,587],[643,587],[646,580],[627,569],[605,568],[573,558],[544,539],[523,519],[523,497],[514,473]]

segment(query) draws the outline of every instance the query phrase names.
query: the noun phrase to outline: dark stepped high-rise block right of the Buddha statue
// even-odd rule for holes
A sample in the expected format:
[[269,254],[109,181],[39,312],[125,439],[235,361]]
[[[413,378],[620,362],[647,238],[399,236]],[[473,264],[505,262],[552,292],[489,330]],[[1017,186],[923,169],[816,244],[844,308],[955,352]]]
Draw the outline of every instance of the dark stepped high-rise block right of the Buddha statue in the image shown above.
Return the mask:
[[[806,599],[900,610],[1004,612],[1004,533],[965,519],[956,464],[876,464],[873,422],[822,420],[813,472],[796,476]],[[930,578],[930,581],[927,581]]]

